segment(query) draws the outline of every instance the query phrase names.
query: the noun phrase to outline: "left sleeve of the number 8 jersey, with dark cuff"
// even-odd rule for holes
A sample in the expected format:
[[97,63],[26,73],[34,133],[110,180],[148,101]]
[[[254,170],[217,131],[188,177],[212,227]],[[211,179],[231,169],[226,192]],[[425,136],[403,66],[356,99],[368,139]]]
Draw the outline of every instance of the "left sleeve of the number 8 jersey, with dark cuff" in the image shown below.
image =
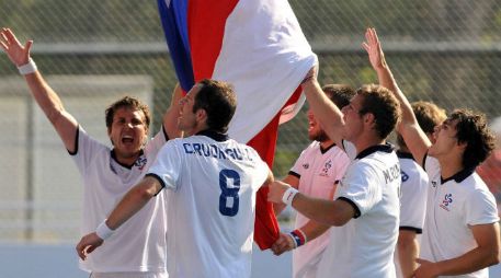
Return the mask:
[[183,147],[178,142],[179,140],[169,140],[161,148],[147,173],[147,175],[156,176],[162,183],[162,187],[172,190],[178,189],[179,173],[181,173],[184,161],[184,157],[180,152]]

